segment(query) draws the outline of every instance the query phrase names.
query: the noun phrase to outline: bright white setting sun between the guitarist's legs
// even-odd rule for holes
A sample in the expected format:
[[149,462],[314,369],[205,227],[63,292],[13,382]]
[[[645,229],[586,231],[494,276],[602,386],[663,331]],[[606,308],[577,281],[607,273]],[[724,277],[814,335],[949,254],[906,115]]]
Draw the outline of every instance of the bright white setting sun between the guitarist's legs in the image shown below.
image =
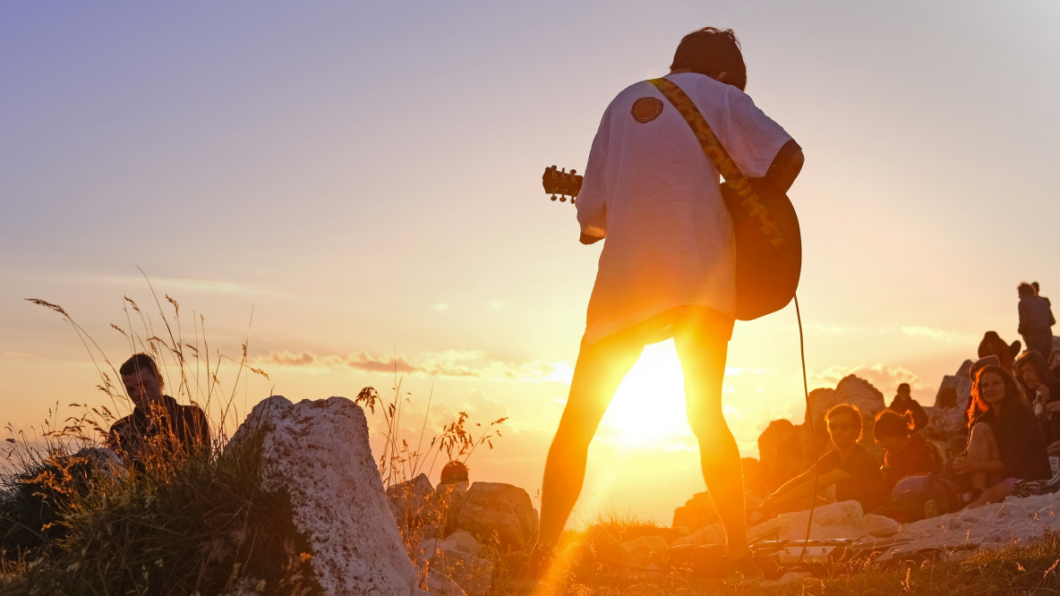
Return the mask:
[[667,446],[690,436],[684,379],[672,339],[646,347],[607,407],[602,436],[624,446]]

